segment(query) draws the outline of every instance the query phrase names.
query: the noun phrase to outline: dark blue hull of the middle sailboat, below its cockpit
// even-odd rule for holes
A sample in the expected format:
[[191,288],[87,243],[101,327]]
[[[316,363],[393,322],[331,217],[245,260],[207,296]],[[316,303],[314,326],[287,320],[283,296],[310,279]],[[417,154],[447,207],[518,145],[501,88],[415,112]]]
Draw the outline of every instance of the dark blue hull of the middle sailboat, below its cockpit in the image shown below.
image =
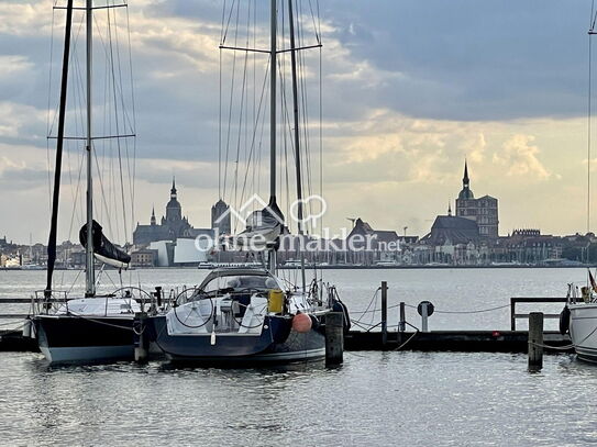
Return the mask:
[[172,361],[194,364],[286,364],[317,360],[325,356],[325,337],[318,329],[297,333],[291,321],[267,316],[261,334],[169,335],[166,317],[147,320],[150,343],[155,344]]

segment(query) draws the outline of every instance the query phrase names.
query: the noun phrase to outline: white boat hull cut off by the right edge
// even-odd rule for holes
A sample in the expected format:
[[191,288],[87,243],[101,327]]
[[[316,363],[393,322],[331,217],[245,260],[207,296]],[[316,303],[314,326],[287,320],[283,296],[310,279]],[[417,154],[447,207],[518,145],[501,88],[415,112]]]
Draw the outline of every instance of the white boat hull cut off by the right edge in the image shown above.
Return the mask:
[[568,304],[570,335],[579,359],[597,362],[597,304]]

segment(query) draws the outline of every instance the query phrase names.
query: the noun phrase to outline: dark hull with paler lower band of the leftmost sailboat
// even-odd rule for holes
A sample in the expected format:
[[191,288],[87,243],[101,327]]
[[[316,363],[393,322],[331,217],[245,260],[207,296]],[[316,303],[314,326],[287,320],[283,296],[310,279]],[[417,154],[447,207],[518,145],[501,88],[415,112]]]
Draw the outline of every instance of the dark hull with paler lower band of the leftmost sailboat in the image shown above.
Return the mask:
[[37,315],[40,350],[52,364],[134,358],[133,316]]

